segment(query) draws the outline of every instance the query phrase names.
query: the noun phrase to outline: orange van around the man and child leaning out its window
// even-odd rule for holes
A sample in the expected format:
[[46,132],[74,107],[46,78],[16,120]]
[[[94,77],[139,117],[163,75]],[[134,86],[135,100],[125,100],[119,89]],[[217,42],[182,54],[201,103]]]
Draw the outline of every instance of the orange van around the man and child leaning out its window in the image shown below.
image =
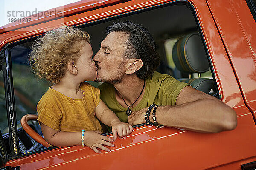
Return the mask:
[[[125,20],[151,32],[161,58],[157,71],[232,107],[236,129],[206,134],[141,124],[127,139],[117,139],[111,152],[49,146],[31,115],[49,88],[30,70],[32,43],[46,31],[71,25],[90,34],[96,54],[107,26]],[[82,0],[12,21],[0,28],[0,170],[256,169],[255,0]],[[184,39],[196,48],[178,47]],[[174,62],[179,50],[198,57],[206,71],[180,70]]]

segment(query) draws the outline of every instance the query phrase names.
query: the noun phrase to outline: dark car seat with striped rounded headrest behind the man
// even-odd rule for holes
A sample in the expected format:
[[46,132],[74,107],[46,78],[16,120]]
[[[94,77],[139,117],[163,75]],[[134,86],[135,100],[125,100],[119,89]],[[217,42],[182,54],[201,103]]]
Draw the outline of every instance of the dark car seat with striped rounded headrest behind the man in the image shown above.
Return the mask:
[[[198,33],[191,33],[181,37],[175,42],[172,57],[179,71],[189,73],[189,78],[178,80],[186,82],[193,88],[209,94],[214,81],[209,78],[200,78],[201,73],[209,70],[207,54],[200,35]],[[193,73],[198,73],[198,78],[191,78],[191,74]]]

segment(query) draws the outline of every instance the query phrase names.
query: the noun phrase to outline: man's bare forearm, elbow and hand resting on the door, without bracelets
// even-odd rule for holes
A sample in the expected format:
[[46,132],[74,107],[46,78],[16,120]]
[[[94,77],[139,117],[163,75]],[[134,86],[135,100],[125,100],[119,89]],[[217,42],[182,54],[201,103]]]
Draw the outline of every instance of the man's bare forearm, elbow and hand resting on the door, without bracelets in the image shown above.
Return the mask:
[[[128,123],[144,123],[146,110],[134,111],[128,117]],[[204,133],[233,130],[237,125],[236,113],[232,108],[190,86],[180,91],[175,106],[159,106],[156,118],[160,125]],[[152,113],[150,121],[153,122]]]

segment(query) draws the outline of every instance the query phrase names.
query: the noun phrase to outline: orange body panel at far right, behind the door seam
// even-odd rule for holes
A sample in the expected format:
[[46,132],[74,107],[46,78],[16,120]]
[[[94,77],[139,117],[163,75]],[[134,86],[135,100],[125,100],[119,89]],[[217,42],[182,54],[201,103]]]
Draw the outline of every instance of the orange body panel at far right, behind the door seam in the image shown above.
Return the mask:
[[[236,73],[244,101],[256,117],[256,21],[246,3],[208,0]],[[217,5],[218,4],[218,5]],[[221,6],[227,10],[220,10]],[[229,20],[226,20],[226,16]]]

